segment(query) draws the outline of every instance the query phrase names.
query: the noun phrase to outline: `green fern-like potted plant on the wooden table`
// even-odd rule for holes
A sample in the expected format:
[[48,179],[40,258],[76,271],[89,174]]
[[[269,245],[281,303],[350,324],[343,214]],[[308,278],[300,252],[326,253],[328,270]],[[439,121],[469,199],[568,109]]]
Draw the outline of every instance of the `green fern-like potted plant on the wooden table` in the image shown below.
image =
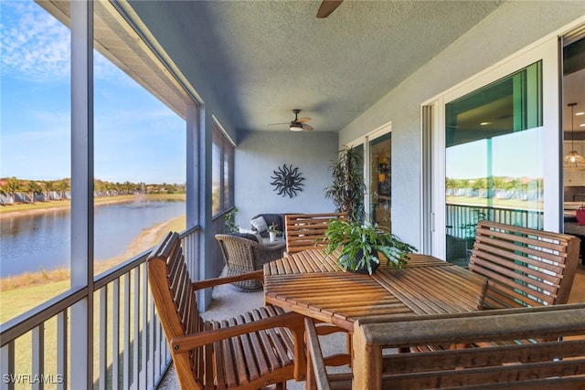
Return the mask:
[[334,219],[324,232],[325,255],[335,256],[337,265],[346,271],[372,274],[380,264],[379,254],[394,269],[403,268],[412,247],[376,225]]

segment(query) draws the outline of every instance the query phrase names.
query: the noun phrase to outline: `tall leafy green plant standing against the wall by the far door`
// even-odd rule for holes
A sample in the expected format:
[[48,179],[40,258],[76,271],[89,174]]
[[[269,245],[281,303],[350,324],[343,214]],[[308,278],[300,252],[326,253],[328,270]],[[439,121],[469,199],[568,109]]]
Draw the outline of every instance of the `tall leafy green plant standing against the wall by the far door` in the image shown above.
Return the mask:
[[354,147],[346,146],[329,168],[333,182],[324,189],[325,197],[332,199],[337,211],[346,213],[349,221],[363,221],[366,183],[362,156]]

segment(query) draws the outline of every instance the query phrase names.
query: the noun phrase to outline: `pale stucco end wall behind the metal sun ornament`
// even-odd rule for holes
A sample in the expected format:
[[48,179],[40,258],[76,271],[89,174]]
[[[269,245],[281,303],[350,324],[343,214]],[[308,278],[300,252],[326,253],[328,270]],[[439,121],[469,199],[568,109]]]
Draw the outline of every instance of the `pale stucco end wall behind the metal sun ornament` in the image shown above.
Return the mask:
[[[336,132],[247,132],[239,138],[235,155],[236,223],[250,228],[252,216],[264,213],[334,212],[325,199],[331,183],[329,165],[337,157]],[[305,178],[303,191],[282,197],[273,191],[273,171],[293,164]]]

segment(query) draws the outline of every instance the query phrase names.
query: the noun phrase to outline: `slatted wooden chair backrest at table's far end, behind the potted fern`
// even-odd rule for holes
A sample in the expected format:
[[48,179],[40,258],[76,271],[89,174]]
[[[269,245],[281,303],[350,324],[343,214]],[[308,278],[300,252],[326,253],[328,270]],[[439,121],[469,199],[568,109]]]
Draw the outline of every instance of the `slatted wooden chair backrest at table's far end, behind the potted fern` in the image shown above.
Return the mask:
[[329,221],[336,218],[346,219],[346,213],[287,214],[284,216],[286,230],[286,251],[301,252],[315,247],[324,247],[324,232]]

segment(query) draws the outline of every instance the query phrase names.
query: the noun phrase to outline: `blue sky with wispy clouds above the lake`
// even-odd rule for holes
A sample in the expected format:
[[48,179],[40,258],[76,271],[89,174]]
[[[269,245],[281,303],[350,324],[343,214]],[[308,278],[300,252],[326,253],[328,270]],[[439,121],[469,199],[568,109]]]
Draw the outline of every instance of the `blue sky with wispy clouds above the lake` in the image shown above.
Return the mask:
[[[70,177],[69,43],[34,1],[0,0],[0,177]],[[94,177],[185,183],[185,121],[94,54]]]

